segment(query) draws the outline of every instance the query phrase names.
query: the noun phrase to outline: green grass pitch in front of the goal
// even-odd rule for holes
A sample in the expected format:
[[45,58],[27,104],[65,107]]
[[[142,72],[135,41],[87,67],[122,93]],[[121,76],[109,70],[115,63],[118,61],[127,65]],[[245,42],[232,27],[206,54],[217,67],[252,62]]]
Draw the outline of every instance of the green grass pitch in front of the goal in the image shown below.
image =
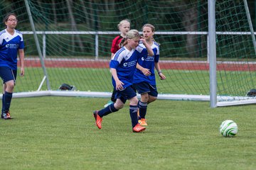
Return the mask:
[[[128,106],[95,126],[106,98],[14,98],[13,120],[0,121],[1,169],[255,169],[255,105],[158,100],[149,126],[133,133]],[[238,135],[222,137],[223,120]]]

